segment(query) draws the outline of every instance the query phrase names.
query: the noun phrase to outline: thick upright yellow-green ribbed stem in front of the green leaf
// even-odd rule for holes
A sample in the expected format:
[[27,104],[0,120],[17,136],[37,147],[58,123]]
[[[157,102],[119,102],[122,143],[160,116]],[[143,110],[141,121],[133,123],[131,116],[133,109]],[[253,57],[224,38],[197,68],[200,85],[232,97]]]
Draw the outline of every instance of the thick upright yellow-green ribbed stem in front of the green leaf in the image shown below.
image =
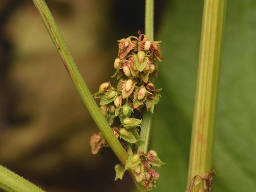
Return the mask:
[[194,176],[211,170],[225,6],[225,0],[204,1],[187,188]]

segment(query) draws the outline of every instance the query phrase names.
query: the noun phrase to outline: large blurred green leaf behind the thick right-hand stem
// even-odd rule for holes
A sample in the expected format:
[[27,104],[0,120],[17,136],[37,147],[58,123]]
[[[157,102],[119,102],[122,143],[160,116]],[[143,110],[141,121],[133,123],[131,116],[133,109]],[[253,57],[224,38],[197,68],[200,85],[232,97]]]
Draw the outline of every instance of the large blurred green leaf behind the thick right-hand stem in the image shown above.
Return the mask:
[[[152,146],[166,164],[155,191],[186,188],[202,8],[203,1],[172,1],[156,38],[163,40],[157,79],[163,97],[156,107]],[[213,163],[219,192],[256,188],[255,9],[252,0],[227,2]]]

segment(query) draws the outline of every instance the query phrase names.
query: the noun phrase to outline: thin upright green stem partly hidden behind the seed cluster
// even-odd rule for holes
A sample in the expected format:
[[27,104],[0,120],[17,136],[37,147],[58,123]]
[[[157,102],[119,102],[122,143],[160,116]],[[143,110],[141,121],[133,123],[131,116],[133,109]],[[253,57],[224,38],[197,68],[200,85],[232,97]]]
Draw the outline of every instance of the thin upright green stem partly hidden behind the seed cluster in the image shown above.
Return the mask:
[[[145,0],[145,3],[145,35],[148,39],[154,40],[154,0]],[[138,153],[147,153],[152,120],[153,114],[145,111],[140,130],[140,137],[144,142],[139,146]]]

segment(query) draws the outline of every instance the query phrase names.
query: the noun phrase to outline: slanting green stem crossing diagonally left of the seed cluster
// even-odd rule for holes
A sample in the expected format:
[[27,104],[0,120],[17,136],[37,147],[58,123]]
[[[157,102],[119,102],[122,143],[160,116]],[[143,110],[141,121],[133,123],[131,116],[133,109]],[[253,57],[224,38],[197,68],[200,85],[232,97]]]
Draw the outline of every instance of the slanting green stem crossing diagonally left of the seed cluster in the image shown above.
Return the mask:
[[53,44],[57,48],[57,51],[63,61],[63,65],[65,66],[73,83],[75,84],[75,87],[81,96],[83,103],[86,105],[89,113],[99,127],[103,137],[109,143],[116,156],[122,163],[125,164],[126,159],[128,158],[128,154],[112,132],[111,127],[101,114],[94,98],[86,86],[86,83],[83,81],[83,78],[76,67],[75,61],[72,58],[59,29],[57,28],[57,25],[47,4],[44,0],[33,0],[33,2],[42,19],[44,20],[45,26],[52,38]]

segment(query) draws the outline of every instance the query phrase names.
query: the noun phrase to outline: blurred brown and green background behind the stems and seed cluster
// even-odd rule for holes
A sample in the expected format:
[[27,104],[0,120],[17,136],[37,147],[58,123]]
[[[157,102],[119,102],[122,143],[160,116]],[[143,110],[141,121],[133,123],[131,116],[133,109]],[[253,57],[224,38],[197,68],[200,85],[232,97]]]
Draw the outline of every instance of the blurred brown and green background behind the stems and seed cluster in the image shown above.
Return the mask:
[[[48,0],[92,93],[114,73],[117,41],[144,29],[144,1]],[[154,191],[186,188],[202,0],[155,1],[162,40],[151,148],[166,164]],[[228,1],[215,132],[215,191],[256,188],[256,2]],[[114,82],[114,81],[113,81]],[[98,132],[32,1],[0,1],[0,164],[46,191],[132,191]]]

